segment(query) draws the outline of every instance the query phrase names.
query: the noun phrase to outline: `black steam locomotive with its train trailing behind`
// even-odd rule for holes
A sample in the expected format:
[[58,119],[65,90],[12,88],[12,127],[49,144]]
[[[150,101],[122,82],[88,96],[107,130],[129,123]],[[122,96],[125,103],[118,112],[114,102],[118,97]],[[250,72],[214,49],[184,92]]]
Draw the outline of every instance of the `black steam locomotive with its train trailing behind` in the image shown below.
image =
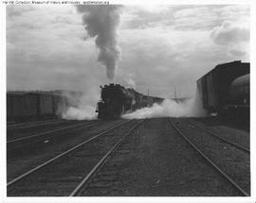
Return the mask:
[[144,107],[161,103],[163,98],[137,93],[130,88],[119,84],[109,84],[101,87],[101,101],[98,102],[98,118],[119,118],[122,114],[132,112]]

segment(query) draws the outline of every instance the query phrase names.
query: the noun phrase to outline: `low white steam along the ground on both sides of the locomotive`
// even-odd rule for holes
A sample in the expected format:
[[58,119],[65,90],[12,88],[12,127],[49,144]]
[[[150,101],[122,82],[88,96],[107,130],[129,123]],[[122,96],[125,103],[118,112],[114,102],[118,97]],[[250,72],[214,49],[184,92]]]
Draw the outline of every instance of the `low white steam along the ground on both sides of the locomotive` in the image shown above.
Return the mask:
[[[92,120],[97,119],[96,104],[88,105],[86,95],[79,99],[78,107],[70,107],[63,113],[64,119],[70,120]],[[125,119],[142,119],[155,117],[204,117],[207,115],[202,106],[199,95],[195,93],[194,97],[184,102],[176,102],[172,99],[165,99],[161,104],[154,104],[152,107],[146,107],[131,113],[122,115]]]

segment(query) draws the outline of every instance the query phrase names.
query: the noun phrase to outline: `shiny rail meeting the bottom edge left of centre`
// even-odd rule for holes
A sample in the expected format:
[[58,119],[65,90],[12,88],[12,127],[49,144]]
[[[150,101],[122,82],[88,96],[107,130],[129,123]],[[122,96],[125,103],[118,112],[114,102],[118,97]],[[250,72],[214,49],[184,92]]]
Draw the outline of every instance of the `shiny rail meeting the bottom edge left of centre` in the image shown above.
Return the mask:
[[84,186],[84,184],[86,184],[90,178],[92,178],[92,176],[100,169],[100,167],[105,163],[105,161],[110,157],[111,154],[113,154],[113,152],[119,147],[120,144],[122,144],[122,142],[124,141],[124,139],[131,134],[132,131],[134,131],[138,126],[140,126],[142,123],[144,122],[144,120],[140,121],[135,127],[132,127],[131,129],[129,129],[118,141],[118,143],[116,143],[102,158],[101,161],[99,161],[94,167],[93,169],[89,172],[89,174],[86,175],[85,178],[82,179],[82,181],[78,184],[78,186],[70,193],[69,196],[75,196],[78,195],[78,193],[81,191],[82,187]]

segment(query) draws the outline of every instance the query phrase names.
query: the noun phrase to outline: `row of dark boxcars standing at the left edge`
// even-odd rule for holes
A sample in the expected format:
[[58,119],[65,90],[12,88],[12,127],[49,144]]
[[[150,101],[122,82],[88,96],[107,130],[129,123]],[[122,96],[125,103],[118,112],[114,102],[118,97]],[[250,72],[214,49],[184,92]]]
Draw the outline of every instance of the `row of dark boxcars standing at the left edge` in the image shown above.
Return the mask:
[[57,117],[66,106],[66,98],[61,95],[7,93],[7,120],[20,122]]

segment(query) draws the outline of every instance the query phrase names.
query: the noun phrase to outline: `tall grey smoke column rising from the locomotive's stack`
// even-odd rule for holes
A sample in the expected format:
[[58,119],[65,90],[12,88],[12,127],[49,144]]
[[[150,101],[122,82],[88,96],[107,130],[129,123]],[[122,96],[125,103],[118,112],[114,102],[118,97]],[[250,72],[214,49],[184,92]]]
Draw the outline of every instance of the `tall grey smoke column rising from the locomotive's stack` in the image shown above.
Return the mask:
[[77,10],[84,13],[82,22],[91,38],[95,38],[100,48],[98,60],[106,67],[109,79],[115,78],[117,62],[120,59],[118,44],[118,27],[120,20],[120,6],[78,6]]

